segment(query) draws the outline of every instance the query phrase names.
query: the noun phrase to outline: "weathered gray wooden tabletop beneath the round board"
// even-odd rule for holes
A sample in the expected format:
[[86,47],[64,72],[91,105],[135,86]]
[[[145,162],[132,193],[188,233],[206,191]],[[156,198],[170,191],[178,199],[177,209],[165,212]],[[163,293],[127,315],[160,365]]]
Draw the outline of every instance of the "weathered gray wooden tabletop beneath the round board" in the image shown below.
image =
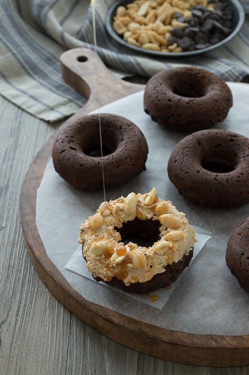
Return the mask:
[[249,374],[139,353],[106,338],[61,305],[38,278],[24,245],[19,194],[29,164],[59,126],[0,96],[0,374]]

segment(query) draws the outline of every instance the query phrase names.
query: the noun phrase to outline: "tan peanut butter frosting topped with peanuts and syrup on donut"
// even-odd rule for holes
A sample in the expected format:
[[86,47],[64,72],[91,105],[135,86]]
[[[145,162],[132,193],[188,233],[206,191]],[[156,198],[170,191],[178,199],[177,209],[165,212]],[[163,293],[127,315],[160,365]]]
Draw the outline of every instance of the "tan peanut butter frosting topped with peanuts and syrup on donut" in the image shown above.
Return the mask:
[[[136,218],[158,220],[159,239],[152,246],[122,241],[118,229]],[[160,199],[153,187],[146,194],[131,192],[102,202],[96,213],[81,224],[78,242],[94,277],[105,281],[117,277],[130,285],[164,272],[167,264],[178,262],[189,253],[196,239],[185,213],[179,212],[171,201]]]

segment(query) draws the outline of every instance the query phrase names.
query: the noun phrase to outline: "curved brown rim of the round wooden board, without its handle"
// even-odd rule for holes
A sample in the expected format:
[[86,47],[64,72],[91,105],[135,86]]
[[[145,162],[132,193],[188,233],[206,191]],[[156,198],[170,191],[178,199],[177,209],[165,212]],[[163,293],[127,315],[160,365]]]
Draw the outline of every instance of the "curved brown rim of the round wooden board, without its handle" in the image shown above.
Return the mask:
[[36,190],[51,155],[53,141],[54,135],[36,155],[28,168],[20,194],[20,221],[28,254],[48,290],[81,320],[102,334],[148,355],[192,365],[249,365],[249,335],[192,334],[138,322],[85,300],[69,285],[47,257],[35,225]]

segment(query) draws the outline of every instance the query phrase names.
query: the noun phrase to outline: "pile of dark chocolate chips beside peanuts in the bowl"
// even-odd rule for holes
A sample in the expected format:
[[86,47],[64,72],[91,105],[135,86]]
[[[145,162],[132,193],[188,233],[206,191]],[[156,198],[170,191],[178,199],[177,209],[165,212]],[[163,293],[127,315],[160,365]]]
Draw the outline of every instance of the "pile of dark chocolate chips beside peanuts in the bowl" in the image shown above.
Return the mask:
[[207,48],[227,37],[232,32],[233,7],[224,0],[209,0],[214,3],[214,10],[203,5],[190,7],[191,17],[184,17],[182,13],[175,13],[179,22],[188,23],[189,26],[173,27],[170,45],[177,42],[183,51],[193,51]]

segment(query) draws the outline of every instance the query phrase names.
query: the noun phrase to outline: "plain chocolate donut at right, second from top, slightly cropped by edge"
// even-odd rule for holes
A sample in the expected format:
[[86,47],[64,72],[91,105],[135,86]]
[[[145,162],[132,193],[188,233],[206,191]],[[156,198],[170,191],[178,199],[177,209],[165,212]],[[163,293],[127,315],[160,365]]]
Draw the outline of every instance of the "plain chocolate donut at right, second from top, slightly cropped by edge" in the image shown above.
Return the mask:
[[249,138],[200,130],[183,138],[168,161],[170,180],[187,199],[215,207],[249,202]]

